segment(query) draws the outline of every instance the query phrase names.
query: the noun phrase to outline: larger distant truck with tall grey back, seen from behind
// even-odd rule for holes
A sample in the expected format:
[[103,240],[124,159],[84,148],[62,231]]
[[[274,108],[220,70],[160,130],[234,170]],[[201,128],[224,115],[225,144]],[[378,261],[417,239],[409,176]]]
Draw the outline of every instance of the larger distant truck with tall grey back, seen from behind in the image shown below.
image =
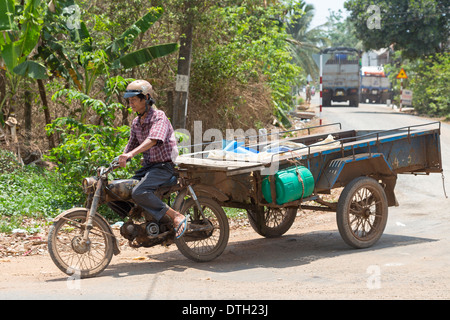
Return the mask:
[[322,74],[322,98],[324,106],[332,101],[349,101],[350,106],[359,105],[361,51],[348,47],[322,50],[324,55]]

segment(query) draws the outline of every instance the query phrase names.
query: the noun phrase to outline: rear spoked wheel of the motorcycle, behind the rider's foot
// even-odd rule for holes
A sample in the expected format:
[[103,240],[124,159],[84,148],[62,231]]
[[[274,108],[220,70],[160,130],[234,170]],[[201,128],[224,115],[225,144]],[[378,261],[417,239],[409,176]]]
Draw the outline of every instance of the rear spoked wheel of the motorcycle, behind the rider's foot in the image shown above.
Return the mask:
[[230,226],[222,207],[210,198],[199,197],[202,211],[213,224],[214,229],[198,240],[190,240],[190,223],[203,223],[195,201],[190,198],[182,206],[180,213],[188,219],[188,230],[185,235],[175,240],[178,250],[188,259],[196,262],[211,261],[220,256],[228,244]]

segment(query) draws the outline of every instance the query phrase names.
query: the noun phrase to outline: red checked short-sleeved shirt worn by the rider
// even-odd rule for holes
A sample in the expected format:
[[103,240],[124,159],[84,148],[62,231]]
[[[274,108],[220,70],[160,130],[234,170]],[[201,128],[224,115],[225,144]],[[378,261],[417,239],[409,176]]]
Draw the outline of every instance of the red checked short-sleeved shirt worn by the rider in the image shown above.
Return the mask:
[[133,120],[125,153],[140,146],[145,139],[157,140],[157,143],[143,153],[144,164],[175,161],[177,158],[178,149],[173,127],[163,111],[150,109],[142,124],[139,117]]

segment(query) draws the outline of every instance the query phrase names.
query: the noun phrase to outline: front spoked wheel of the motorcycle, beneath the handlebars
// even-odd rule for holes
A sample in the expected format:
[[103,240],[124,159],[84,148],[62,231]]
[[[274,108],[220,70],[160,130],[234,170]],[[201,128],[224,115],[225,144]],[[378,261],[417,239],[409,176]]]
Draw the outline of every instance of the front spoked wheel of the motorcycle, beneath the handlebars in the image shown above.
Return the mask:
[[68,212],[51,226],[48,235],[48,251],[55,265],[67,275],[81,279],[101,273],[113,256],[108,224],[95,216],[85,242],[86,220],[86,210]]

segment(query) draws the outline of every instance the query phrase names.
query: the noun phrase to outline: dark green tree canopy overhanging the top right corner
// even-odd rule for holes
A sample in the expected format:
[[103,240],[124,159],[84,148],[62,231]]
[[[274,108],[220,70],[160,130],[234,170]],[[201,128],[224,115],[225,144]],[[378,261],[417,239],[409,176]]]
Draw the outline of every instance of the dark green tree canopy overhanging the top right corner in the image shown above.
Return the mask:
[[349,0],[344,6],[366,50],[393,45],[404,57],[418,58],[447,48],[448,0]]

